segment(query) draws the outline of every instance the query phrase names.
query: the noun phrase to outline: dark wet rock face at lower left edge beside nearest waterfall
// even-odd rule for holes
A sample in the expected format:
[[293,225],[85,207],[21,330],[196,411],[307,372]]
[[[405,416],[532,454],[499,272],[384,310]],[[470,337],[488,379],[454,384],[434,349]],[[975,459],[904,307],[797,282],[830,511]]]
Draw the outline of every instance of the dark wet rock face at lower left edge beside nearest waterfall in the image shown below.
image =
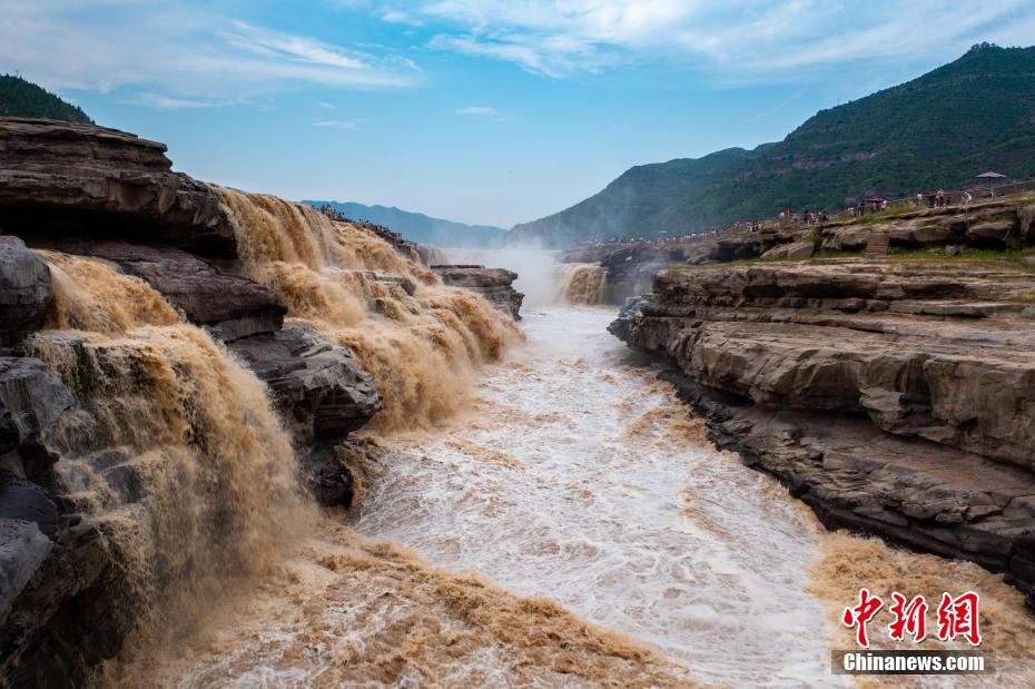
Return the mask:
[[118,611],[100,533],[63,500],[46,433],[75,400],[43,362],[0,357],[0,685],[67,687],[118,650]]

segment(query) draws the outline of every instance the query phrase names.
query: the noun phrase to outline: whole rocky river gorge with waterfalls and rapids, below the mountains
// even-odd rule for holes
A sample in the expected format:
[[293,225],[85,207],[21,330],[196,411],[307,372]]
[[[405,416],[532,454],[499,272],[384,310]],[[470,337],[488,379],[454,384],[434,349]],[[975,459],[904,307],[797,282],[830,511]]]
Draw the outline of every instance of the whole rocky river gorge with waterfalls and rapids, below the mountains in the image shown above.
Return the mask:
[[[1035,683],[1019,264],[442,250],[0,144],[4,685],[852,686],[861,588],[979,594],[998,673],[917,686]],[[887,232],[1035,234],[976,213]]]

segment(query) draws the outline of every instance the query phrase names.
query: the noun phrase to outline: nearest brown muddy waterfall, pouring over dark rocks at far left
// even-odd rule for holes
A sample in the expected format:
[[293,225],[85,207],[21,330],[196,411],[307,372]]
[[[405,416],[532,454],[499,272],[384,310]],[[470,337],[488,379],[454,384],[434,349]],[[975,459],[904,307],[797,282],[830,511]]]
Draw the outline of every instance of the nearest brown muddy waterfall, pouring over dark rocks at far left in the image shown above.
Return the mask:
[[186,629],[310,521],[290,440],[255,375],[145,282],[40,254],[57,305],[27,348],[77,401],[46,437],[63,500],[108,551],[119,623]]

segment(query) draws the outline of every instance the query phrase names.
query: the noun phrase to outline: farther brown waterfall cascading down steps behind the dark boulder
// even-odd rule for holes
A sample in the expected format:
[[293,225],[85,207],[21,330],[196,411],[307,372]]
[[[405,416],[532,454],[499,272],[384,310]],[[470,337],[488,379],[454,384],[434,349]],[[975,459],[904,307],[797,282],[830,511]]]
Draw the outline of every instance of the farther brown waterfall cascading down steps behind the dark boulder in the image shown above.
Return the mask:
[[241,270],[289,317],[349,346],[384,397],[382,430],[427,427],[460,410],[473,372],[520,334],[481,296],[443,286],[367,229],[279,198],[217,188]]

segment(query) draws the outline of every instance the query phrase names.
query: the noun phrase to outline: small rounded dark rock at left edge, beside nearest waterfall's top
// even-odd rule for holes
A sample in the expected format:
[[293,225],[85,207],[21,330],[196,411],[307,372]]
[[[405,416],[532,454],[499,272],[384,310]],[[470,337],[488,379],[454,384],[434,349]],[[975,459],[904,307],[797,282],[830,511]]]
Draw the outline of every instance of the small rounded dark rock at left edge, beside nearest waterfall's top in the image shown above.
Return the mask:
[[0,345],[40,327],[53,303],[50,270],[18,237],[0,236]]

